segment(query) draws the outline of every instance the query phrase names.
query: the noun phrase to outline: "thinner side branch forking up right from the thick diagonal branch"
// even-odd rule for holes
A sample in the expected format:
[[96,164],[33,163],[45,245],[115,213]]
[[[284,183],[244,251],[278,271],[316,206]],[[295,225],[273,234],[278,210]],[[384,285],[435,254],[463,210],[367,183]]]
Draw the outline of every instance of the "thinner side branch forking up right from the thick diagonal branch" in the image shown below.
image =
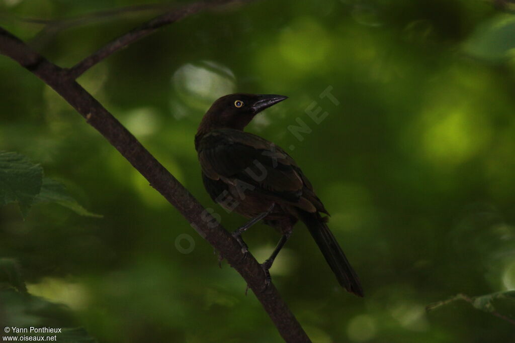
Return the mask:
[[90,56],[86,57],[75,66],[70,68],[70,77],[77,79],[84,71],[88,70],[101,60],[110,56],[113,52],[118,51],[126,47],[127,45],[134,43],[135,41],[145,37],[146,35],[156,31],[160,27],[175,23],[186,16],[198,13],[203,10],[208,10],[221,5],[230,5],[248,2],[250,0],[213,0],[213,1],[202,1],[198,3],[188,4],[178,9],[171,10],[164,14],[161,14],[146,23],[143,23],[139,27],[121,35],[120,37],[112,40],[104,47],[101,47]]

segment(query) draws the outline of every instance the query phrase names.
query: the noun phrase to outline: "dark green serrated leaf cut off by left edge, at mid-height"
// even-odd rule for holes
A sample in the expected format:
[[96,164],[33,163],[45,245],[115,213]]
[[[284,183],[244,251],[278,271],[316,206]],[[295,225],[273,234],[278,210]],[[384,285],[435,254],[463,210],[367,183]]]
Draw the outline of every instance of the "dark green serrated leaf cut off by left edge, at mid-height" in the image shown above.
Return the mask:
[[0,152],[0,206],[18,202],[26,219],[41,190],[43,168],[15,152]]

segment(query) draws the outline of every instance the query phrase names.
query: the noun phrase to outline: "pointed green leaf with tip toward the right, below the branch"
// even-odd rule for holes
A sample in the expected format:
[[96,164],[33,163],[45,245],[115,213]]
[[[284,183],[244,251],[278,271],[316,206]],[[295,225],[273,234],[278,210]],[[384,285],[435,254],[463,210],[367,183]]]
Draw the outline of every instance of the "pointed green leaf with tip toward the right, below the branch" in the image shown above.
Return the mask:
[[70,193],[66,187],[57,180],[51,178],[43,178],[41,192],[36,196],[35,203],[57,203],[61,206],[71,209],[79,215],[92,216],[102,218],[102,215],[95,214],[82,207]]

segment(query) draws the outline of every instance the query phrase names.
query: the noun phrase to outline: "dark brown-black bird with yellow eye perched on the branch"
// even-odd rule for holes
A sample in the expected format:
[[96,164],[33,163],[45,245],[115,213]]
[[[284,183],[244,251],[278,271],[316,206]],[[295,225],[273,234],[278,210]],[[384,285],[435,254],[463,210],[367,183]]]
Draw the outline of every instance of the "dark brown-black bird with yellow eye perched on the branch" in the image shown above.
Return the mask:
[[228,212],[250,219],[232,233],[243,252],[248,247],[242,233],[253,224],[262,220],[281,233],[271,256],[261,264],[265,284],[270,283],[273,261],[301,221],[338,283],[363,297],[356,272],[328,227],[329,212],[295,160],[274,143],[244,131],[254,116],[285,99],[282,95],[237,93],[222,96],[211,105],[195,135],[203,185],[213,201]]

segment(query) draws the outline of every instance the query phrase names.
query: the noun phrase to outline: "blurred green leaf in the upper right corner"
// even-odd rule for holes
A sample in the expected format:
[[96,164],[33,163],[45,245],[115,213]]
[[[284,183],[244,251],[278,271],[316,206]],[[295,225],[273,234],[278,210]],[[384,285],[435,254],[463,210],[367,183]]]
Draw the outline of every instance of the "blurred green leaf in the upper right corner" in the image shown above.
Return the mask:
[[463,49],[469,55],[490,62],[506,60],[515,48],[515,17],[501,14],[479,25],[465,42]]

